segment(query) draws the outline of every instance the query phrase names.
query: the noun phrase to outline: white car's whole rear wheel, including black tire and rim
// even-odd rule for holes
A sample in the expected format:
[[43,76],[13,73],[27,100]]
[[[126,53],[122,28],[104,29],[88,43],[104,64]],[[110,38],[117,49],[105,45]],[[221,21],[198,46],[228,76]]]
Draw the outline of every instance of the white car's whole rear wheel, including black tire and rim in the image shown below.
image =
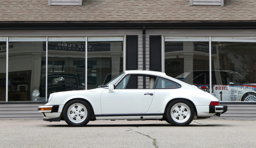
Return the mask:
[[187,126],[194,118],[195,109],[186,100],[174,100],[166,109],[167,120],[174,126]]

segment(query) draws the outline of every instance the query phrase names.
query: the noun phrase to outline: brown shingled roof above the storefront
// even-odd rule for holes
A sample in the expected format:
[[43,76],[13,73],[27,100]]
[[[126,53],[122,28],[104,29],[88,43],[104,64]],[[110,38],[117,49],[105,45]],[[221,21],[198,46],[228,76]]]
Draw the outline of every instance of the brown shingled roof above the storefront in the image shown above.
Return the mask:
[[224,6],[189,0],[83,0],[82,6],[48,0],[1,0],[0,22],[255,21],[255,0],[224,0]]

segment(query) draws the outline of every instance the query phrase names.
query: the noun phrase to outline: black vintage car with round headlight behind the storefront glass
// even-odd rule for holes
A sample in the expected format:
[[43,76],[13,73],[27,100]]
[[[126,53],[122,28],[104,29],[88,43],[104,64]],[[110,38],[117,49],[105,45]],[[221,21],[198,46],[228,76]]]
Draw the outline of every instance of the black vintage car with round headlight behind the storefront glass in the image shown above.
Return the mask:
[[[47,98],[54,92],[64,92],[73,90],[84,90],[84,83],[80,83],[76,75],[73,74],[52,74],[47,77]],[[42,80],[39,90],[32,92],[35,101],[45,101],[45,77]]]

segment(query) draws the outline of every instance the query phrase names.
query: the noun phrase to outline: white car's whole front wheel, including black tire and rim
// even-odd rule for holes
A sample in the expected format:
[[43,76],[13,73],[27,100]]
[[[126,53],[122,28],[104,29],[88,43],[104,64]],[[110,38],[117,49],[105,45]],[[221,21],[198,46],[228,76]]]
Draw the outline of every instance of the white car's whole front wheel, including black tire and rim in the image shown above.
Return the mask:
[[85,126],[91,119],[91,108],[83,100],[72,100],[63,108],[63,118],[70,126]]

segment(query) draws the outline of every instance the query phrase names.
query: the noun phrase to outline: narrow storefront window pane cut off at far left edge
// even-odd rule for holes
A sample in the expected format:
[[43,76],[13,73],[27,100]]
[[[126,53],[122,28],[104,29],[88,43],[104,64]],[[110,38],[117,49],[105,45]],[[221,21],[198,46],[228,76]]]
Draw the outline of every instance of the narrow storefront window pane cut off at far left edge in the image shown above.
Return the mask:
[[[0,38],[1,39],[1,38]],[[0,101],[6,101],[6,41],[0,40]]]

